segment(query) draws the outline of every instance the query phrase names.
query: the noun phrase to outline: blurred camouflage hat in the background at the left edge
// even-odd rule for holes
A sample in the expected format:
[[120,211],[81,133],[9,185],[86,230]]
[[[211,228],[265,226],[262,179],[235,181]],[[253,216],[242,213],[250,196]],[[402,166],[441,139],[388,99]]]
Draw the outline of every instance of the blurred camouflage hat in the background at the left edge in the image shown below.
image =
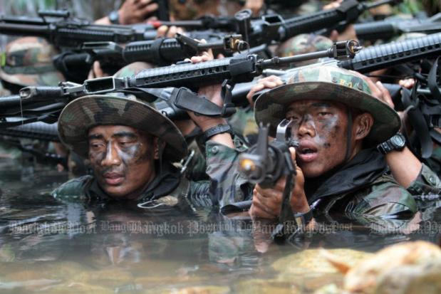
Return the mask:
[[58,85],[63,75],[53,66],[56,49],[45,39],[18,38],[0,54],[0,78],[16,85]]

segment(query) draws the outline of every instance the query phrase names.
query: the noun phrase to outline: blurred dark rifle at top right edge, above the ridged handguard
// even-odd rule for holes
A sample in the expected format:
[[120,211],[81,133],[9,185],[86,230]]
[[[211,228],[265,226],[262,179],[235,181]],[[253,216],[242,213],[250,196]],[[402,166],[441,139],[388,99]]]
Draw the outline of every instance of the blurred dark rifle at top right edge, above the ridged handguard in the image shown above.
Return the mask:
[[391,19],[354,24],[357,37],[360,40],[376,41],[389,40],[403,33],[440,33],[441,13],[430,19]]

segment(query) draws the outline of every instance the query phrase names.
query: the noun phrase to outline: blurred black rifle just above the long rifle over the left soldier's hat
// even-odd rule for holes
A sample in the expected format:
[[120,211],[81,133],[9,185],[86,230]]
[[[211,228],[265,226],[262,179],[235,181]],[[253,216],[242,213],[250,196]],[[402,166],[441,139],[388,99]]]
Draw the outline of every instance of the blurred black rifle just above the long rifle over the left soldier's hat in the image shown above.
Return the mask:
[[124,47],[114,42],[86,42],[78,51],[65,51],[54,56],[53,63],[67,80],[82,83],[94,61],[100,62],[105,73],[113,75],[123,66],[135,61],[167,65],[195,56],[209,48],[217,54],[223,53],[224,56],[247,49],[247,44],[240,40],[240,35],[211,36],[207,40],[209,43],[200,43],[181,34],[177,34],[176,38],[130,42]]

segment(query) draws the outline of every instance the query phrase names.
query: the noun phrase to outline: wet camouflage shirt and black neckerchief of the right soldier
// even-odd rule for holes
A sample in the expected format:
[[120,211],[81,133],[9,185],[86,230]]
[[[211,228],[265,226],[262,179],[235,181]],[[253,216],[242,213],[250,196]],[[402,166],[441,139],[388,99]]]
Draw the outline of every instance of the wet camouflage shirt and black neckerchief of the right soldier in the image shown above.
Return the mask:
[[[252,197],[253,186],[239,174],[238,157],[235,149],[207,142],[207,174],[214,179],[212,193],[219,197],[220,206]],[[411,216],[417,211],[414,191],[401,187],[387,174],[380,153],[368,149],[354,159],[306,191],[309,204],[316,207],[315,214],[339,211],[348,216]]]

